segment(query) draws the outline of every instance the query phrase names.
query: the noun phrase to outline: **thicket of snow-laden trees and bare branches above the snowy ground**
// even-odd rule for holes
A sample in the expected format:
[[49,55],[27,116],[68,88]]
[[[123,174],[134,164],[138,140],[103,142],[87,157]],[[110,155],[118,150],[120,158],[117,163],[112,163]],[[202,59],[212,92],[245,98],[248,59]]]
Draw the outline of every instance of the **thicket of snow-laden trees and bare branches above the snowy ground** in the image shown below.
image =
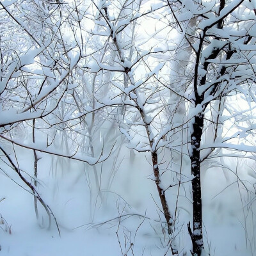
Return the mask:
[[[202,165],[255,159],[255,8],[251,0],[1,1],[1,169],[33,193],[36,216],[40,202],[51,226],[37,192],[44,154],[84,163],[93,209],[104,202],[100,170],[109,189],[125,145],[152,165],[172,254],[182,250],[182,228],[200,256]],[[15,146],[33,152],[32,176]],[[181,191],[191,194],[191,220],[178,211]]]

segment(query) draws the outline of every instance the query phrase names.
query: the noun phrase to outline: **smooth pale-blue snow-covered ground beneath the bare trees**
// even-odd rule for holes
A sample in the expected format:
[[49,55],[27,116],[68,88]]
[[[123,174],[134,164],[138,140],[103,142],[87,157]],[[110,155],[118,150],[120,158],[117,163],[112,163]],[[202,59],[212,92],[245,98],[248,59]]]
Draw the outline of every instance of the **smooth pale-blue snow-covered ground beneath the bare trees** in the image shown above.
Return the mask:
[[[31,155],[24,152],[22,157],[20,166],[27,167],[31,172],[33,164],[30,164],[30,168],[28,166]],[[63,167],[53,175],[51,157],[44,157],[42,161],[44,164],[40,163],[38,191],[54,212],[61,237],[54,221],[50,230],[45,228],[47,216],[42,207],[39,207],[39,223],[44,227],[39,227],[33,195],[18,186],[15,182],[24,187],[19,177],[8,170],[7,173],[13,180],[3,172],[0,174],[0,195],[5,198],[0,202],[0,213],[10,226],[12,234],[4,232],[3,224],[0,226],[3,227],[0,230],[1,255],[116,256],[127,253],[138,256],[164,255],[166,252],[166,255],[172,255],[167,246],[168,236],[162,232],[160,211],[154,202],[158,202],[156,188],[154,182],[147,179],[150,166],[145,163],[145,157],[136,156],[132,164],[129,164],[129,157],[126,157],[116,173],[111,189],[102,190],[104,204],[96,205],[95,201],[90,203],[90,189],[83,164],[62,163],[65,167],[69,165],[70,169],[65,170]],[[248,178],[246,170],[243,173],[243,179]],[[102,179],[105,179],[104,175]],[[252,194],[247,194],[242,187],[239,187],[239,193],[235,175],[224,175],[220,168],[208,168],[202,182],[207,251],[215,256],[255,255],[253,204],[250,207],[242,206],[246,200],[250,202],[253,199]],[[225,190],[222,191],[223,189]],[[97,202],[100,202],[99,198]],[[124,217],[116,218],[120,215]],[[182,216],[189,216],[188,203],[187,206],[180,205],[180,218]],[[161,218],[163,221],[163,216]],[[186,250],[189,252],[191,246],[186,228],[182,229],[178,237],[180,244],[184,246],[184,250],[180,252],[183,255]]]

